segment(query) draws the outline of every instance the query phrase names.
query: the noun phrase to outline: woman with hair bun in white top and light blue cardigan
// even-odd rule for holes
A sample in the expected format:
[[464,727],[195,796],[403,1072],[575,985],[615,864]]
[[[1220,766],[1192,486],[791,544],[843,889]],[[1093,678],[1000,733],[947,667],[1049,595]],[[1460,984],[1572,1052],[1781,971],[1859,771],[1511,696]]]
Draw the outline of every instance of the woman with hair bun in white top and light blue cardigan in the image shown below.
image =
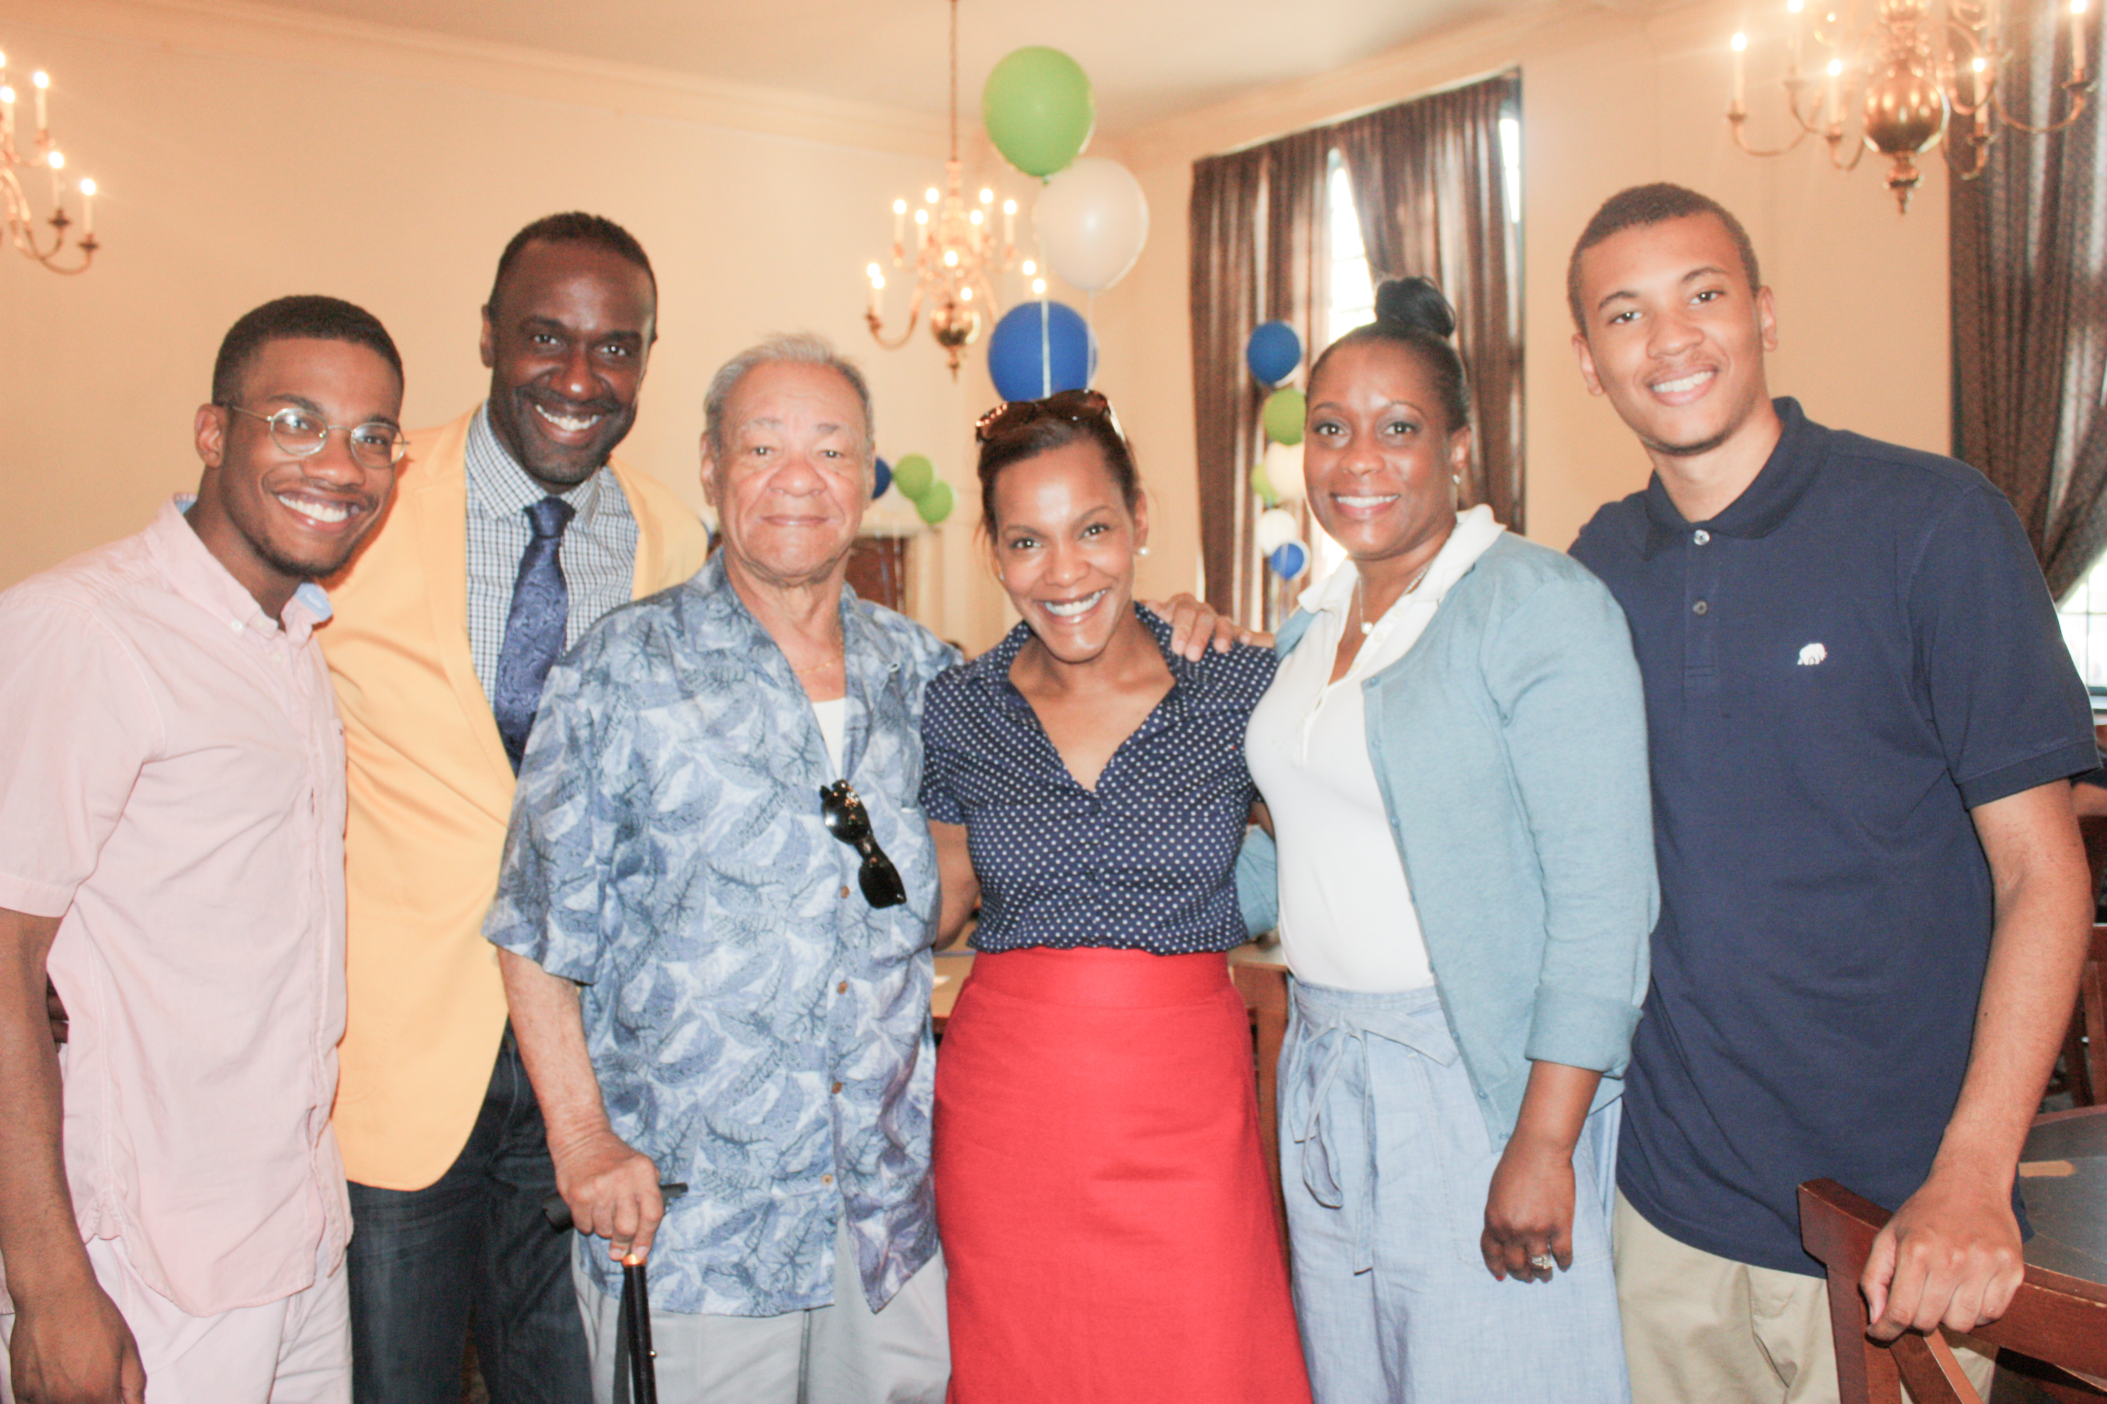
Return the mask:
[[[1308,387],[1302,596],[1245,749],[1271,810],[1245,916],[1294,970],[1281,1172],[1319,1404],[1629,1398],[1610,1276],[1616,1095],[1654,918],[1622,613],[1458,516],[1469,396],[1426,280]],[[1268,882],[1273,878],[1273,882]]]

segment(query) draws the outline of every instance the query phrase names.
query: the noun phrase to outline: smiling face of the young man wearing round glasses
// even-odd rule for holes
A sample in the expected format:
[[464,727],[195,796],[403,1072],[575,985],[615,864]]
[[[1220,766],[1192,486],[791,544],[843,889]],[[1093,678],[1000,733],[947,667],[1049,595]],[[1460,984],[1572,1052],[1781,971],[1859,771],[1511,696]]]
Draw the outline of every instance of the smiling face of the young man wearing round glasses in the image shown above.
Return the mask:
[[[377,352],[350,341],[265,341],[238,381],[234,404],[255,415],[301,408],[331,425],[398,425],[402,379]],[[301,581],[335,573],[373,530],[394,493],[394,467],[367,467],[346,434],[293,457],[270,425],[221,404],[198,406],[204,474],[188,520],[206,549],[272,619]]]

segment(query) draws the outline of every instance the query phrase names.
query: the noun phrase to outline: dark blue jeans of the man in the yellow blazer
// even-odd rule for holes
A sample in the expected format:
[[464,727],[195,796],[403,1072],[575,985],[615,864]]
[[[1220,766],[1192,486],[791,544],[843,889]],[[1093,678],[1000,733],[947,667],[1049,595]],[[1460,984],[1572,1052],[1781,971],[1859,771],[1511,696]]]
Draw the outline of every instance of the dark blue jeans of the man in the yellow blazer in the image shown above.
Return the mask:
[[356,1404],[459,1404],[470,1328],[491,1404],[588,1404],[573,1236],[541,1215],[554,1189],[541,1107],[508,1027],[453,1166],[424,1189],[352,1185]]

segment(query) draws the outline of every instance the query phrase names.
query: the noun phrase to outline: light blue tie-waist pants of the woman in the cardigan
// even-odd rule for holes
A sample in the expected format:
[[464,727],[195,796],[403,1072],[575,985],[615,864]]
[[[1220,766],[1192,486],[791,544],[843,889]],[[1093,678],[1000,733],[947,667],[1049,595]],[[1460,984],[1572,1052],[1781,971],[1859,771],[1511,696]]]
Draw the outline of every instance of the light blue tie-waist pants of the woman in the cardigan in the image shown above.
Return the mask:
[[1496,1282],[1479,1257],[1500,1162],[1433,989],[1294,981],[1281,1181],[1317,1404],[1631,1404],[1610,1276],[1618,1103],[1574,1151],[1574,1265]]

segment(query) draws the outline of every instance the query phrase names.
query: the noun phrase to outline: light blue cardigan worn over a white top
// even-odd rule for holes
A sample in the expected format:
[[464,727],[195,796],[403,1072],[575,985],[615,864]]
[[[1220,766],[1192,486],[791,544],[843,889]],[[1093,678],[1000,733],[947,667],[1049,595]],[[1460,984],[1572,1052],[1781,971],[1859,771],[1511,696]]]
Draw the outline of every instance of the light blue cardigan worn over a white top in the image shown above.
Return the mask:
[[[1279,653],[1308,625],[1308,613],[1289,619]],[[1361,693],[1441,1010],[1492,1143],[1513,1135],[1532,1059],[1599,1069],[1595,1105],[1614,1101],[1660,909],[1624,613],[1570,556],[1502,535]],[[1237,897],[1254,932],[1275,924],[1275,848],[1258,829]]]

